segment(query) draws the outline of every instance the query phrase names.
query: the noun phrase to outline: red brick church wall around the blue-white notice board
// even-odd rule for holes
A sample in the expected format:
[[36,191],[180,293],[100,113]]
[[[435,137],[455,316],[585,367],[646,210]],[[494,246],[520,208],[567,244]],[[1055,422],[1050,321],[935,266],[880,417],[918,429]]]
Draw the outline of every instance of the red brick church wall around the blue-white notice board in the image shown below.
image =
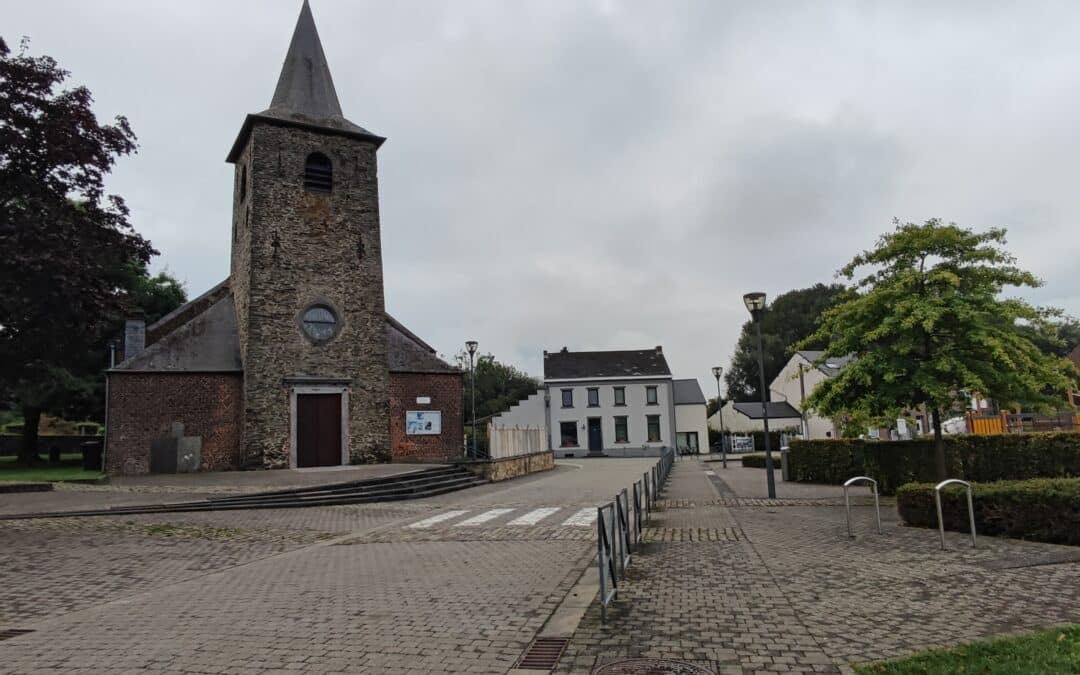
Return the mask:
[[[462,392],[460,373],[391,373],[390,446],[393,461],[460,458],[464,447]],[[417,396],[431,396],[431,405],[417,404]],[[443,433],[437,436],[406,435],[407,410],[442,410]]]

